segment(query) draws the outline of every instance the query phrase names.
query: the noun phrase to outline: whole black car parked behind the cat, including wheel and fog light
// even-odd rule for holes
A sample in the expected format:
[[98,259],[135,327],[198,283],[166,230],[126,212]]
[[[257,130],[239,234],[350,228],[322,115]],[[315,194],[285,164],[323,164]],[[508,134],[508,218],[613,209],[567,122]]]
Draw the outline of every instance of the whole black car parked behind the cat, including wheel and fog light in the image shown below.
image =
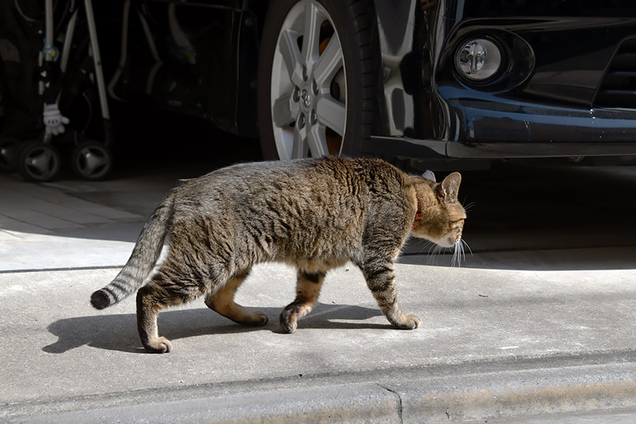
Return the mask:
[[259,136],[268,159],[382,155],[431,167],[636,154],[632,0],[123,6],[110,97]]

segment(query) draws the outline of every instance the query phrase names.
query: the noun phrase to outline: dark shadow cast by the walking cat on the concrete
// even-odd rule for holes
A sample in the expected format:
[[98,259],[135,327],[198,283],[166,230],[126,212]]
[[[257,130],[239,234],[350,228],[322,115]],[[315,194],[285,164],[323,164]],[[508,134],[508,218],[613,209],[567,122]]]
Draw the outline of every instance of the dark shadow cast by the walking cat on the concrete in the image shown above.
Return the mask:
[[[170,340],[206,334],[237,334],[246,331],[283,333],[278,324],[282,308],[254,308],[269,315],[264,326],[242,326],[208,308],[167,310],[158,318],[159,331]],[[362,322],[382,315],[377,308],[318,303],[312,313],[300,320],[299,329],[389,329],[391,325]],[[346,320],[346,321],[339,321]],[[65,353],[88,345],[93,348],[129,353],[144,353],[137,334],[136,314],[105,314],[59,319],[47,327],[57,336],[55,343],[42,348],[47,353]]]

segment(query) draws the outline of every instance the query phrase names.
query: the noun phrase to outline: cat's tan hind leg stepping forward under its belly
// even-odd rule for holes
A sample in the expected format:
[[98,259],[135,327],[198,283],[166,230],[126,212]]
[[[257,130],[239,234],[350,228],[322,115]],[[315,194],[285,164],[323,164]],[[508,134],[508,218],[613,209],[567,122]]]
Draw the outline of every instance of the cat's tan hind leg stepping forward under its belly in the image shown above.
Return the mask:
[[206,305],[213,310],[227,317],[238,324],[243,325],[265,325],[269,322],[269,317],[265,312],[252,311],[234,302],[234,295],[236,290],[245,278],[249,271],[237,273],[237,275],[230,279],[223,287],[216,290],[215,293],[208,295],[206,298]]

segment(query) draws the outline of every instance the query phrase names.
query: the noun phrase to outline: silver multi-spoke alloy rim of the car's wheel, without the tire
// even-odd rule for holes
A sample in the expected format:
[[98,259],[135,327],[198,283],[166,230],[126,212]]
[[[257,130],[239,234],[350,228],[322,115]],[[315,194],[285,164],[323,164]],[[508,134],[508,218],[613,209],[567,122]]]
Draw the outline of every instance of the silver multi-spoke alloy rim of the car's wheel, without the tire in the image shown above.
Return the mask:
[[283,160],[337,155],[346,131],[340,38],[322,4],[304,0],[283,21],[271,73],[271,117]]

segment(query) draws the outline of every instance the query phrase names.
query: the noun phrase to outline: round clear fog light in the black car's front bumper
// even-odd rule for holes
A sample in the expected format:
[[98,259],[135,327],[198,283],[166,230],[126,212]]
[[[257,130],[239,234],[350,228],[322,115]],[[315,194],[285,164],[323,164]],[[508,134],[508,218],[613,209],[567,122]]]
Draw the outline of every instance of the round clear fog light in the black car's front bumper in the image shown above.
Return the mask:
[[494,42],[479,38],[470,40],[457,50],[455,66],[471,81],[483,81],[494,76],[501,66],[501,51]]

